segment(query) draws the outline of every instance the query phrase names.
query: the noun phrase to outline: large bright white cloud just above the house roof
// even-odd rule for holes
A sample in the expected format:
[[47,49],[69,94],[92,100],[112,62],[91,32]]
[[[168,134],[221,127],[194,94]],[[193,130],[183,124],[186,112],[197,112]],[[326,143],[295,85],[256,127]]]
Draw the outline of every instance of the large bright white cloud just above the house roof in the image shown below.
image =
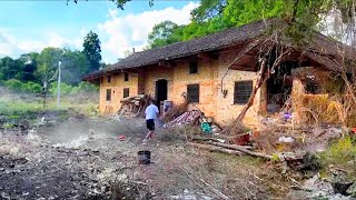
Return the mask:
[[125,51],[131,51],[132,48],[142,50],[155,24],[165,20],[177,24],[189,23],[190,11],[197,7],[198,3],[189,2],[181,9],[170,7],[123,17],[118,17],[117,10],[109,10],[109,19],[98,24],[103,56],[111,56],[106,59],[115,62],[117,58],[125,56]]

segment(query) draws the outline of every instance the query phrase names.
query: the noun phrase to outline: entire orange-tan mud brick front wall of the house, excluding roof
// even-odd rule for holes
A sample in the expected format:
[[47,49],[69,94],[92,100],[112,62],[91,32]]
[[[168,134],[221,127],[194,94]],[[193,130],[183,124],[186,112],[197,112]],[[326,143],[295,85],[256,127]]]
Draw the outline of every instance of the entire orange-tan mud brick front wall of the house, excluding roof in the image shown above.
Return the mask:
[[[130,89],[130,96],[136,96],[138,92],[156,98],[156,81],[160,79],[167,80],[168,83],[168,100],[174,104],[179,104],[184,101],[181,94],[187,92],[188,84],[199,84],[199,103],[190,103],[188,109],[200,109],[207,117],[212,117],[220,126],[228,124],[237,118],[245,104],[234,104],[234,89],[236,81],[251,80],[256,83],[257,73],[247,71],[229,70],[221,79],[235,59],[238,52],[221,53],[217,60],[199,60],[198,73],[189,73],[189,61],[178,61],[175,67],[150,66],[145,70],[139,70],[139,73],[129,73],[129,81],[123,81],[123,73],[111,76],[111,82],[108,83],[107,77],[100,84],[100,113],[115,113],[120,108],[120,100],[123,97],[123,88]],[[227,96],[224,97],[221,87],[227,90]],[[264,86],[265,87],[265,86]],[[263,89],[264,89],[263,87]],[[139,89],[140,88],[140,89]],[[106,101],[107,89],[112,90],[111,101]],[[139,91],[140,90],[140,91]],[[261,98],[257,92],[254,106],[246,114],[245,123],[250,127],[258,124],[258,112],[266,104],[265,98]],[[108,109],[109,108],[109,109]]]

